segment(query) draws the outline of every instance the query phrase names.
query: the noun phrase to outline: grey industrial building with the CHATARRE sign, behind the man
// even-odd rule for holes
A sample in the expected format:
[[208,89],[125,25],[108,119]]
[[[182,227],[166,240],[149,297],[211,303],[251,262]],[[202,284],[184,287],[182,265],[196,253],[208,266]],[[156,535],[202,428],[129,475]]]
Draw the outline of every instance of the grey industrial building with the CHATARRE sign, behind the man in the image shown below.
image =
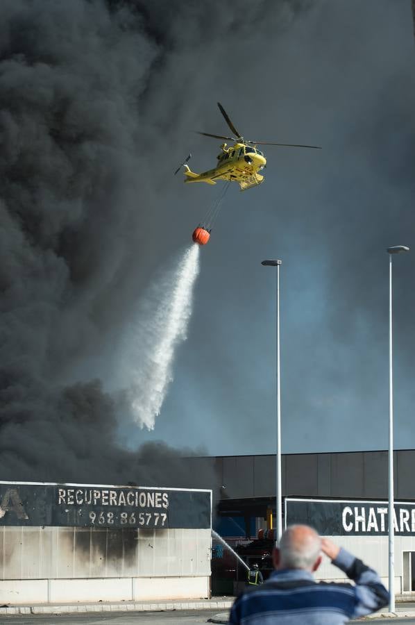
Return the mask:
[[[214,528],[255,560],[258,531],[274,525],[276,456],[195,458],[194,470],[215,469],[219,503]],[[394,452],[395,589],[415,593],[415,450]],[[388,581],[387,451],[282,456],[284,523],[307,523],[372,565]],[[259,543],[258,543],[259,544]],[[263,545],[262,545],[263,547]],[[242,551],[241,551],[242,553]],[[325,562],[320,579],[344,579]]]

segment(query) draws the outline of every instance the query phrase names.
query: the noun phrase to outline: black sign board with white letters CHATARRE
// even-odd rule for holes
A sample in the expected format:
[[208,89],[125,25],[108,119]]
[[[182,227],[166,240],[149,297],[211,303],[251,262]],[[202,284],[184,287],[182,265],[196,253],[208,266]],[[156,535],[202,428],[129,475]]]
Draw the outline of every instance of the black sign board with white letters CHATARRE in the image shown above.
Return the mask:
[[[286,525],[304,523],[322,536],[387,535],[387,501],[341,501],[330,499],[285,499]],[[394,503],[396,535],[415,536],[415,503]]]

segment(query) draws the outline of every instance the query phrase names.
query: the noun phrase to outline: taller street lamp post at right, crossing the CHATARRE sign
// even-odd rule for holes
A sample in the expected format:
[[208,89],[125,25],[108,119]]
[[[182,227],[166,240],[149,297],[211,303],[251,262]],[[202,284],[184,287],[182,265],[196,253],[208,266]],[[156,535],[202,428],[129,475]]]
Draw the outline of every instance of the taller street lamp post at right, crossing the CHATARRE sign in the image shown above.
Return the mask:
[[389,253],[389,447],[388,447],[388,465],[389,465],[389,612],[395,612],[395,532],[393,527],[393,375],[392,375],[392,254],[398,254],[409,251],[406,245],[395,245],[387,248]]

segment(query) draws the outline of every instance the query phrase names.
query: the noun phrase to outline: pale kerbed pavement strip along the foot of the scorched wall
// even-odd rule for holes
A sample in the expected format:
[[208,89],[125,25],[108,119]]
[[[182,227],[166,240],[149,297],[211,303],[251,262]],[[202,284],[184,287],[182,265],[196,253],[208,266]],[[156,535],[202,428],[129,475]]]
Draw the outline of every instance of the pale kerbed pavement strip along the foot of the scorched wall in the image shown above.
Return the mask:
[[[219,612],[219,610],[229,610],[234,600],[235,597],[214,597],[213,599],[178,599],[177,601],[10,603],[0,606],[0,616],[5,614],[67,614],[69,612],[164,612],[165,610],[218,610]],[[223,612],[223,614],[228,618],[229,612]]]

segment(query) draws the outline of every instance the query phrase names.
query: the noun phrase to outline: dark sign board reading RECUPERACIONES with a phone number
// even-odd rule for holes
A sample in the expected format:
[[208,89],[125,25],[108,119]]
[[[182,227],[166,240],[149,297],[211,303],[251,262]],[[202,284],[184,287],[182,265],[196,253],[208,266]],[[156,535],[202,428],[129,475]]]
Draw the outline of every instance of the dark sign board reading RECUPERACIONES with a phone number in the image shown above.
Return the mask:
[[210,490],[0,482],[0,526],[210,528]]

